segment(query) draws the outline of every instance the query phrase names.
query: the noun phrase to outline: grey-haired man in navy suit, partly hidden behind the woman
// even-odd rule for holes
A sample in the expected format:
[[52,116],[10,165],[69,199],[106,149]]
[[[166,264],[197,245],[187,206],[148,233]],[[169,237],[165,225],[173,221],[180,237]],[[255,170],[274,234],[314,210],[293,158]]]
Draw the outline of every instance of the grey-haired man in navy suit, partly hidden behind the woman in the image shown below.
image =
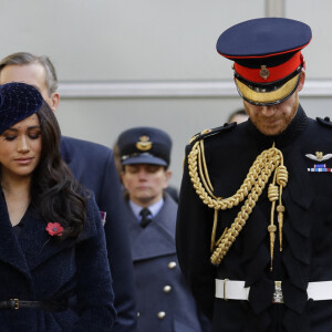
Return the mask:
[[[0,62],[0,84],[35,86],[53,112],[60,94],[55,68],[48,56],[13,53]],[[105,226],[108,262],[117,318],[112,332],[133,332],[136,324],[134,272],[126,229],[126,211],[113,152],[100,144],[62,136],[61,152],[76,179],[95,194]]]

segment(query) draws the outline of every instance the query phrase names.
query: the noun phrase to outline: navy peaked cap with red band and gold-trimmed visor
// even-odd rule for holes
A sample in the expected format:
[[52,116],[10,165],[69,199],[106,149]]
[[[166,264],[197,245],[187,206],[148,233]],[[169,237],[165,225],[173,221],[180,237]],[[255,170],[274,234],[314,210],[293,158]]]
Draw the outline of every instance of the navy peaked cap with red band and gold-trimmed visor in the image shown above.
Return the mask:
[[217,51],[235,61],[235,81],[243,100],[274,105],[295,92],[304,66],[301,50],[311,38],[305,23],[262,18],[227,29],[218,39]]

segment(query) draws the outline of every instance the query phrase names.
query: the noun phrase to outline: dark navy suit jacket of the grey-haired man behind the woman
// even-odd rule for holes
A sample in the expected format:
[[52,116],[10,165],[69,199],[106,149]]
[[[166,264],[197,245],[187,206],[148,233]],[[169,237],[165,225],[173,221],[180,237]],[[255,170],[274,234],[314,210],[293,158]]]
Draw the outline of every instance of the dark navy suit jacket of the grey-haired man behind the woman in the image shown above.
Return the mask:
[[95,194],[100,210],[106,211],[105,236],[117,311],[112,332],[133,332],[136,329],[134,271],[113,152],[71,137],[62,137],[61,152],[76,179]]

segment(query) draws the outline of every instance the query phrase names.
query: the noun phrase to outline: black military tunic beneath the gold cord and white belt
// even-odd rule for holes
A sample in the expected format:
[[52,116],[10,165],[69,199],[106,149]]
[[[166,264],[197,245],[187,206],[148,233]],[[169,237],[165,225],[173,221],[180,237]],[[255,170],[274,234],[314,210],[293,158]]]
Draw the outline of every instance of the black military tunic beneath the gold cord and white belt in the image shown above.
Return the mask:
[[[196,194],[188,163],[185,165],[177,219],[178,258],[195,298],[212,318],[212,331],[332,331],[332,301],[308,301],[307,295],[308,282],[332,280],[332,174],[308,172],[319,163],[305,156],[332,153],[332,125],[308,118],[300,106],[286,132],[274,137],[261,134],[250,121],[208,134],[205,155],[214,194],[232,196],[257,156],[273,142],[283,154],[289,180],[282,190],[283,248],[280,252],[277,232],[272,272],[268,185],[228,253],[215,267],[210,263],[214,210]],[[322,164],[331,168],[332,158]],[[242,205],[219,211],[216,239],[234,222]],[[215,299],[216,278],[245,280],[250,287],[249,301]],[[272,303],[274,280],[282,281],[283,304]]]

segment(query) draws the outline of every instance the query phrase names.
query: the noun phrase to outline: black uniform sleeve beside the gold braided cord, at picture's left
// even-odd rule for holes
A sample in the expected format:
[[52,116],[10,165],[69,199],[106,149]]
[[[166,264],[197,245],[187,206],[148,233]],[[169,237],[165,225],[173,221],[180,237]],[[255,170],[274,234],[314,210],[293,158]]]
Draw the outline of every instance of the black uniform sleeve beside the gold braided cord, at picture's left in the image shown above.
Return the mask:
[[[186,148],[186,156],[190,146]],[[203,204],[188,174],[186,157],[179,194],[176,247],[181,271],[205,314],[211,319],[216,268],[210,263],[214,210]]]

